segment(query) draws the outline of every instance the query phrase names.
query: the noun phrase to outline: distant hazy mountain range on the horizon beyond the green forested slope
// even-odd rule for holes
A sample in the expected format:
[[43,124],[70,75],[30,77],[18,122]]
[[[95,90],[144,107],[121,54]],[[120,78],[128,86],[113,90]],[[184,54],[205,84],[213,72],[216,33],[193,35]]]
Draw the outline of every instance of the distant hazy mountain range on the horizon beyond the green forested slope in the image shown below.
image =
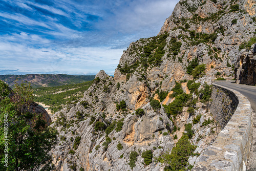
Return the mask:
[[95,75],[66,75],[66,74],[27,74],[27,75],[0,75],[0,79],[14,87],[18,83],[28,81],[33,88],[56,87],[66,84],[75,84],[93,80]]

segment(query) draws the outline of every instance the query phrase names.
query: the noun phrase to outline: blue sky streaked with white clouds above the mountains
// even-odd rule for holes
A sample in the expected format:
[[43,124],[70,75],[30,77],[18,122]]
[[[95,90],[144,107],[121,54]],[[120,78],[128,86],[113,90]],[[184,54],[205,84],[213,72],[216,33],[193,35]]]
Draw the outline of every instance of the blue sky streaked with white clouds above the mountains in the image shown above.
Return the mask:
[[0,74],[109,75],[177,0],[0,0]]

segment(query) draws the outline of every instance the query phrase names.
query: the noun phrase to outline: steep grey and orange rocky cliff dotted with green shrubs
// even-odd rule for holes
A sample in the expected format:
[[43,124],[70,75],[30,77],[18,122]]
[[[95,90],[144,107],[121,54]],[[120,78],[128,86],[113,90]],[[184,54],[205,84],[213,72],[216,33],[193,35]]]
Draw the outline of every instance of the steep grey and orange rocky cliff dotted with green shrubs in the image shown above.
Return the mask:
[[[180,1],[157,36],[123,52],[114,77],[100,71],[79,102],[52,115],[60,133],[52,151],[58,170],[168,169],[156,157],[183,134],[198,146],[194,153],[205,151],[225,126],[209,112],[208,85],[234,78],[253,42],[254,4]],[[188,157],[186,169],[198,162]]]

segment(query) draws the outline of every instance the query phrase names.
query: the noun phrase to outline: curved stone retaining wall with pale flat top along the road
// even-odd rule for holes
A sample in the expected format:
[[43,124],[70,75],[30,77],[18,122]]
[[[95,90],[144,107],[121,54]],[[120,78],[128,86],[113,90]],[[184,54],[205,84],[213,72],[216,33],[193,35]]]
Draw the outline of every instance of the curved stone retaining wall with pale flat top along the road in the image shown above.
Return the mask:
[[238,91],[212,85],[210,111],[223,130],[191,170],[246,170],[252,138],[250,102]]

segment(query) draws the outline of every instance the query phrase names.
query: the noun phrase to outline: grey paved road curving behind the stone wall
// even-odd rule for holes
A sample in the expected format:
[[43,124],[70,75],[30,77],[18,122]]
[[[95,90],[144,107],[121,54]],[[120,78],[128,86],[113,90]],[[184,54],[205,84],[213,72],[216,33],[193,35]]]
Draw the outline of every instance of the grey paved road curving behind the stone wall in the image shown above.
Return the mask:
[[244,84],[236,84],[231,83],[229,81],[216,81],[214,82],[217,85],[227,87],[233,90],[237,90],[242,95],[244,95],[251,103],[251,108],[253,112],[253,131],[252,131],[252,144],[250,149],[250,157],[248,159],[247,171],[255,171],[256,170],[256,87],[255,86],[247,86]]

